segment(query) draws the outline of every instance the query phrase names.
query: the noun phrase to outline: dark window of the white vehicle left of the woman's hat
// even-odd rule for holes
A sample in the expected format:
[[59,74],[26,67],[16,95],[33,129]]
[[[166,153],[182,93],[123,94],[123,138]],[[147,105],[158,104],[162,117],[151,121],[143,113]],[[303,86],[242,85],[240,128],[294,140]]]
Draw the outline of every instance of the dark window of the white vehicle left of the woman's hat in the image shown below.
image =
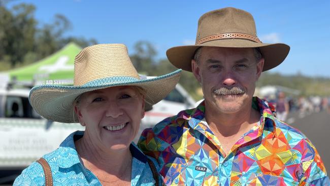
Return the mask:
[[28,102],[28,98],[8,96],[5,117],[40,118]]

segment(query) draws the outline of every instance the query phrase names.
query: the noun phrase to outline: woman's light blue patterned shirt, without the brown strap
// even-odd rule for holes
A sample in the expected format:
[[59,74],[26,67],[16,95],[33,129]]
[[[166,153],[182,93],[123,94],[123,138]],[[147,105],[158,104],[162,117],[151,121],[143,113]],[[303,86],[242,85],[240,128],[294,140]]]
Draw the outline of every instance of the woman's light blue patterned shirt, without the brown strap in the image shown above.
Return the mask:
[[[83,166],[76,151],[75,139],[83,136],[83,131],[76,131],[68,136],[56,150],[43,156],[52,170],[53,185],[102,185],[97,177]],[[133,156],[131,168],[131,185],[151,186],[155,184],[151,169],[147,163],[147,156],[131,143],[129,150]],[[158,163],[150,158],[156,169]],[[160,182],[162,178],[159,176]],[[45,173],[42,166],[34,162],[23,170],[14,185],[45,185]]]

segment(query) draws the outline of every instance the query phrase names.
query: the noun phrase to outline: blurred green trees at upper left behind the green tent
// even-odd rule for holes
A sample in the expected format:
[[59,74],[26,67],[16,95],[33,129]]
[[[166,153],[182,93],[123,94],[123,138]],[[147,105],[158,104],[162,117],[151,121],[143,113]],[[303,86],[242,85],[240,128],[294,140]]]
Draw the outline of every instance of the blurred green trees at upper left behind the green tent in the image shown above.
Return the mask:
[[95,39],[64,37],[72,25],[63,15],[38,25],[34,5],[20,3],[8,8],[9,2],[0,0],[0,71],[34,63],[69,42],[82,47],[97,43]]

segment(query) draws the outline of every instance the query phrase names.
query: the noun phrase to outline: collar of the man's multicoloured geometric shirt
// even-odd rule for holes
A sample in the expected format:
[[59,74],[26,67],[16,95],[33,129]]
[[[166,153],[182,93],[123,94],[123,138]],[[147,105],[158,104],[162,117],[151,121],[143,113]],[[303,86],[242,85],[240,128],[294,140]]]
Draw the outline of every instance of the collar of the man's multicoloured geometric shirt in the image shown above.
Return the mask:
[[[252,108],[259,110],[261,114],[260,125],[263,130],[265,126],[276,130],[275,105],[266,100],[257,97],[252,98]],[[188,120],[188,125],[193,129],[200,128],[199,123],[205,117],[205,101],[200,103],[196,108],[186,110],[178,115],[177,120]]]

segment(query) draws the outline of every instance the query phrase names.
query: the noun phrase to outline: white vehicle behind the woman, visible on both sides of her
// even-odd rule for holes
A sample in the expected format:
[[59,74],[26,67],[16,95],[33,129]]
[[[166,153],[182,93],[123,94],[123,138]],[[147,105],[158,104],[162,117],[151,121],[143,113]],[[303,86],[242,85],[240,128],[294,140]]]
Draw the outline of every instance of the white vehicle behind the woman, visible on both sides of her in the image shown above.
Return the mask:
[[[79,123],[51,122],[41,117],[29,104],[29,91],[29,88],[0,88],[0,184],[12,184],[29,164],[56,149],[72,132],[84,130]],[[146,112],[135,142],[145,128],[194,104],[178,84],[165,99]]]

